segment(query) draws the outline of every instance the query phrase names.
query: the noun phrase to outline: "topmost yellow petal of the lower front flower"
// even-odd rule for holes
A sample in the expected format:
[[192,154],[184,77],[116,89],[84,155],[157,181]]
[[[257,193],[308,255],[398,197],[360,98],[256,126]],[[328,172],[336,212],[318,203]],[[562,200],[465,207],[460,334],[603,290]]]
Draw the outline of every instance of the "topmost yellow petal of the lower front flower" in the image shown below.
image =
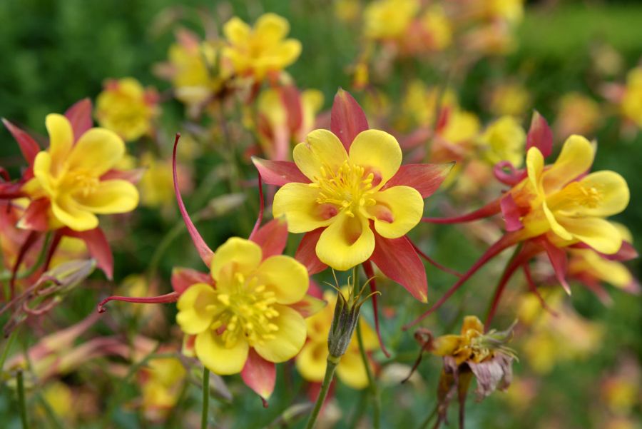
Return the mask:
[[255,271],[262,258],[263,252],[257,243],[244,238],[228,238],[228,241],[225,241],[214,252],[210,266],[212,277],[218,281],[220,271],[228,264],[234,273],[248,275]]

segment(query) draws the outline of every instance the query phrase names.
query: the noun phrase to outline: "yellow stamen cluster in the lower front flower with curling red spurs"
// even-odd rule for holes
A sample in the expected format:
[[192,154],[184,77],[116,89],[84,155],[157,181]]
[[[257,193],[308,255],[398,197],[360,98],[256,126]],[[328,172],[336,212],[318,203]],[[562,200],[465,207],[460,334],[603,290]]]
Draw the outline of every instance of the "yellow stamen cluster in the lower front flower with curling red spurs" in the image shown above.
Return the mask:
[[208,306],[215,311],[211,328],[222,335],[225,347],[232,348],[240,335],[250,345],[263,345],[266,340],[276,338],[274,333],[279,327],[271,322],[279,316],[272,307],[275,293],[258,284],[258,278],[247,279],[241,273],[235,273],[232,282],[231,287],[224,288],[226,293],[217,291],[217,302]]

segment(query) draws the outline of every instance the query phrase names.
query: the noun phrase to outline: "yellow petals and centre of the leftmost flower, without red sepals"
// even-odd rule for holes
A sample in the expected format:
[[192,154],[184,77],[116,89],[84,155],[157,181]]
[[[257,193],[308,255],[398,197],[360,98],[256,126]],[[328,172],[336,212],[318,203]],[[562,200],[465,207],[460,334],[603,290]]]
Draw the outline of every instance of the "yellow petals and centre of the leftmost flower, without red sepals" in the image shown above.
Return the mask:
[[34,161],[34,178],[22,190],[32,199],[49,198],[52,228],[87,231],[98,226],[96,214],[126,213],[138,205],[130,182],[103,178],[125,155],[125,143],[113,131],[91,128],[74,136],[65,116],[46,117],[49,149]]

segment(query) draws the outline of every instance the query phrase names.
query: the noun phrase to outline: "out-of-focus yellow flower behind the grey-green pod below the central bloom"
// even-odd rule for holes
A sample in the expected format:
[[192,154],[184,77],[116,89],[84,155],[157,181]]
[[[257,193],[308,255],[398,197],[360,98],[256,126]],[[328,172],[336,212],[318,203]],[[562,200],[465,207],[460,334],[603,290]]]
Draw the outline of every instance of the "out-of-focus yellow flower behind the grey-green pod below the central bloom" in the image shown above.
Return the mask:
[[[347,296],[347,291],[345,296]],[[307,343],[297,355],[296,360],[297,370],[303,378],[315,383],[321,383],[323,375],[325,375],[328,355],[327,333],[330,331],[332,317],[335,314],[337,294],[326,291],[323,294],[323,299],[329,304],[322,311],[305,320],[307,323]],[[363,318],[359,323],[365,350],[374,350],[379,345],[377,335]],[[368,385],[366,368],[359,352],[357,338],[352,337],[350,345],[342,355],[337,366],[337,375],[343,383],[354,389],[362,389]]]

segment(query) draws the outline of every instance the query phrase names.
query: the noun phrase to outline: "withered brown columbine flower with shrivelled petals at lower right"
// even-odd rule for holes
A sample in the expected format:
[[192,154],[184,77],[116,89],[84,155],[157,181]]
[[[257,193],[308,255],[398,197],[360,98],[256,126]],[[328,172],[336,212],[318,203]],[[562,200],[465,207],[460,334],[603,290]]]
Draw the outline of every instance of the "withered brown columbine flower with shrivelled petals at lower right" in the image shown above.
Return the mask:
[[439,420],[435,428],[446,421],[448,405],[455,395],[459,400],[459,427],[464,427],[464,405],[473,377],[477,379],[478,400],[486,398],[498,388],[504,390],[509,387],[513,377],[512,363],[516,357],[506,343],[512,339],[513,327],[501,332],[490,330],[484,333],[484,325],[479,318],[467,316],[459,335],[442,335],[432,339],[429,332],[417,331],[415,338],[422,343],[422,352],[427,350],[444,359],[437,388]]

